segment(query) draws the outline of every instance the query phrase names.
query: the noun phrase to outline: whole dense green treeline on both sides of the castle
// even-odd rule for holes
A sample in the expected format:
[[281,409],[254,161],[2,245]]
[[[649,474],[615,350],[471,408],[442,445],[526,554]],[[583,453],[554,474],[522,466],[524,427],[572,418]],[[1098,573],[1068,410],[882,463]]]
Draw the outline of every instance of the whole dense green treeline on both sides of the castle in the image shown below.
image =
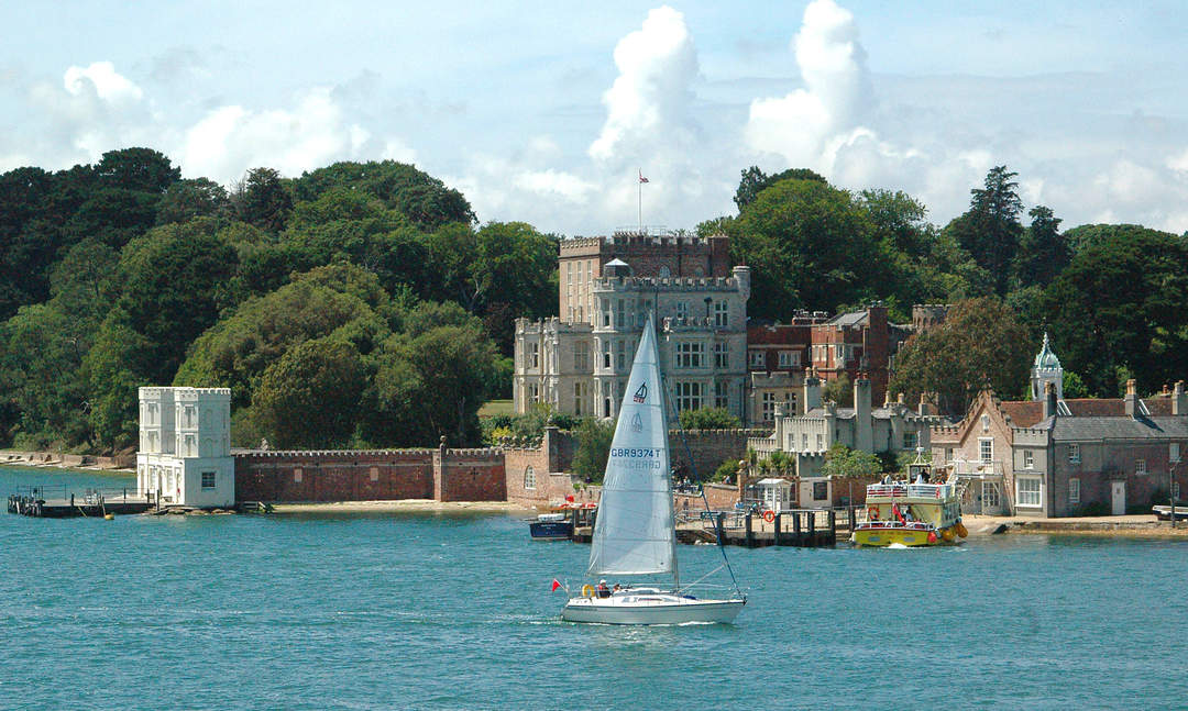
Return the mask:
[[[1144,391],[1188,374],[1181,236],[1060,230],[1005,166],[937,227],[903,192],[851,192],[792,169],[742,171],[732,236],[754,317],[880,300],[956,304],[910,339],[893,388],[961,412],[978,388],[1020,394],[1043,330],[1068,394]],[[476,221],[410,165],[260,167],[223,188],[148,148],[0,174],[0,440],[91,451],[134,444],[135,388],[226,386],[233,440],[425,445],[481,437],[507,396],[512,319],[556,309],[557,239]]]

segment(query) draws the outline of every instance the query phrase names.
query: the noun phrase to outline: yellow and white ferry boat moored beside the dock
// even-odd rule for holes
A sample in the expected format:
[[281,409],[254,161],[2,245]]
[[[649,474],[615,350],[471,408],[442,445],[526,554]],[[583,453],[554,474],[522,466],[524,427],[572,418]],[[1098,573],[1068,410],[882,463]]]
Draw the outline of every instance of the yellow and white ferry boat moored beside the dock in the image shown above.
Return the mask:
[[854,526],[854,544],[941,546],[968,534],[961,523],[956,483],[923,483],[928,468],[909,464],[906,481],[866,487],[866,520]]

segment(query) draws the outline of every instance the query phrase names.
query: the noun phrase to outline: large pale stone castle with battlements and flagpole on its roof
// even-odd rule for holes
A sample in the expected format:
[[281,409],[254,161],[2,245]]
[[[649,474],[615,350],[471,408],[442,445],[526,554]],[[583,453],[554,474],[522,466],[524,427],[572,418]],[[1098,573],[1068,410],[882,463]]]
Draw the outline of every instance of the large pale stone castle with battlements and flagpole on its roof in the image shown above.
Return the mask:
[[571,242],[561,246],[562,316],[516,320],[516,412],[546,402],[613,418],[652,313],[675,407],[741,418],[751,269],[725,267],[728,239],[618,233]]

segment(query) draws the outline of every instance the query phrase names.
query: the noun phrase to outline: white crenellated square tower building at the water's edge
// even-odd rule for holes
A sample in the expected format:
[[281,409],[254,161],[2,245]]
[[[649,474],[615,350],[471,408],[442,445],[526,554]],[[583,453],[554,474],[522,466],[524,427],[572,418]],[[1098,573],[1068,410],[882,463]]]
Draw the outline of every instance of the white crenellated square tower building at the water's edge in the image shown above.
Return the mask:
[[137,490],[163,504],[235,504],[229,388],[140,388]]

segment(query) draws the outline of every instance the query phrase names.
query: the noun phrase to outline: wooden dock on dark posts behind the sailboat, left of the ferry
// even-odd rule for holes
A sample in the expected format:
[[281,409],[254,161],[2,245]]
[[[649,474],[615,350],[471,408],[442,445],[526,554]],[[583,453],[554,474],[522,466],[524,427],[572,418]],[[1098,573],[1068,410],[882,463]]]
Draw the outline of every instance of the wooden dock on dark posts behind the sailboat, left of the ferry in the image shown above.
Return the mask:
[[[791,546],[820,548],[838,544],[838,531],[848,539],[857,512],[853,509],[790,509],[775,513],[770,521],[758,513],[704,512],[696,519],[677,522],[677,540],[683,544],[714,544],[759,548]],[[574,542],[588,544],[589,525],[575,525]]]

